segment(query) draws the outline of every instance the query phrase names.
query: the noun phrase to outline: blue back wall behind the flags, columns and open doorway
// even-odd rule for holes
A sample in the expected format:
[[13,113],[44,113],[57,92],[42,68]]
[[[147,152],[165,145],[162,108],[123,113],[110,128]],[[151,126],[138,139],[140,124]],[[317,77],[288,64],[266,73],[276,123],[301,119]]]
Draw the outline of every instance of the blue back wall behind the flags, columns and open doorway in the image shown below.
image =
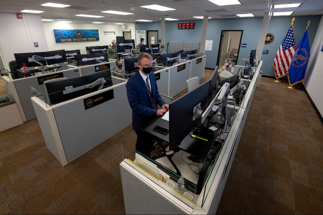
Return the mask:
[[[321,15],[312,16],[279,16],[271,17],[268,31],[275,36],[271,44],[265,45],[264,49],[268,50],[268,54],[263,54],[263,75],[274,77],[274,67],[272,66],[276,52],[282,43],[284,37],[291,24],[291,19],[295,17],[294,21],[294,36],[296,47],[301,40],[307,26],[308,20],[311,21],[308,29],[309,46],[313,44],[313,40],[321,19]],[[166,21],[165,23],[165,51],[167,43],[172,40],[175,41],[193,41],[200,42],[202,36],[203,20],[186,20],[185,23],[194,22],[194,29],[177,29],[179,21]],[[248,17],[248,18],[231,18],[231,19],[209,19],[206,40],[213,40],[212,51],[205,51],[206,68],[215,68],[219,52],[219,44],[221,38],[221,30],[243,30],[241,43],[246,43],[247,47],[240,47],[239,58],[237,64],[241,64],[242,58],[249,58],[250,51],[257,48],[260,30],[263,23],[263,17]],[[137,23],[135,30],[158,30],[159,39],[161,39],[161,23]],[[265,38],[264,38],[265,43]],[[169,51],[170,47],[168,48]],[[221,65],[220,65],[221,66]]]

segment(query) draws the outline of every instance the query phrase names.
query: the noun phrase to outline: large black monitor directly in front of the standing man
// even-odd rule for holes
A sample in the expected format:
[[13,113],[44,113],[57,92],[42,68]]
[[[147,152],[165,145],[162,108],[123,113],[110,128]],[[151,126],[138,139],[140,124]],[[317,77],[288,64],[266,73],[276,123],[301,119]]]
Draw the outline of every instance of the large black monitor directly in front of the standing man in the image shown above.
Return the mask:
[[202,110],[208,107],[210,80],[169,104],[169,150],[177,148],[182,140],[201,122],[193,120],[193,108],[201,103]]

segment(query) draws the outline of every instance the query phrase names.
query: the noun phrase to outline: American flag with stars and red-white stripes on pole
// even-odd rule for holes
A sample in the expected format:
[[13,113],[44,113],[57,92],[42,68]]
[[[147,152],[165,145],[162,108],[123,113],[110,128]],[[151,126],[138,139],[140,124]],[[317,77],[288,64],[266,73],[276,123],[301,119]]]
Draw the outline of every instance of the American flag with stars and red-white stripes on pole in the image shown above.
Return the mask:
[[279,46],[273,66],[276,78],[286,76],[288,73],[290,62],[294,56],[296,47],[293,32],[293,25],[290,26],[287,35],[282,44]]

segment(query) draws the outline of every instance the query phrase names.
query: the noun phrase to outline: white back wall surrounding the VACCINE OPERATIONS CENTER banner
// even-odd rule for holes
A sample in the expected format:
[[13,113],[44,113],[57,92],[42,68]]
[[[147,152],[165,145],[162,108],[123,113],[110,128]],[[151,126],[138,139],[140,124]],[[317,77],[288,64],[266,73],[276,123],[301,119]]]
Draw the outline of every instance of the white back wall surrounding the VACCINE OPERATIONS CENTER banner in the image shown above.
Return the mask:
[[[111,41],[104,42],[103,31],[112,31],[115,32],[115,36],[123,36],[123,29],[131,29],[131,38],[134,39],[135,34],[135,25],[127,25],[125,28],[122,28],[121,25],[114,24],[93,24],[93,23],[59,23],[59,22],[43,22],[45,29],[45,35],[47,39],[48,48],[50,51],[53,50],[85,50],[87,46],[108,46],[111,44]],[[66,42],[66,43],[56,43],[53,29],[93,29],[99,30],[99,41],[87,41],[87,42]],[[84,51],[81,54],[86,54]]]

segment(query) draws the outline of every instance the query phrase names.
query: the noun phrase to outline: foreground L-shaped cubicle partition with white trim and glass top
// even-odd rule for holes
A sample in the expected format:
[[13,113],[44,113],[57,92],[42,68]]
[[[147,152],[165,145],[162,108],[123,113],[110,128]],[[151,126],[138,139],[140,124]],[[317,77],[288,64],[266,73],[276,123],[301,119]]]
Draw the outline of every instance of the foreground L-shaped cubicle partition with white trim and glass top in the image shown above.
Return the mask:
[[[139,167],[132,162],[133,155],[129,147],[124,147],[124,159],[120,163],[120,171],[122,178],[122,187],[124,195],[124,203],[126,214],[215,214],[219,205],[224,186],[229,175],[231,165],[234,159],[236,149],[245,125],[252,98],[255,92],[256,83],[259,77],[261,64],[256,68],[252,80],[244,80],[248,88],[240,104],[227,136],[217,153],[214,165],[210,166],[205,175],[205,183],[201,190],[201,194],[191,192],[193,200],[189,201],[185,196],[179,194],[168,184],[160,179],[152,176],[148,171]],[[230,105],[227,107],[229,108]],[[171,111],[171,110],[170,110]],[[165,123],[165,122],[164,122]],[[165,123],[167,124],[167,123]],[[165,126],[165,125],[163,125]],[[126,145],[126,144],[125,144]],[[132,152],[133,153],[133,152]],[[179,152],[175,153],[173,157]],[[186,154],[185,156],[186,157]],[[130,158],[130,159],[127,159]],[[146,158],[147,159],[147,158]],[[158,159],[157,159],[158,160]],[[156,160],[156,161],[157,161]],[[155,162],[150,159],[151,162]],[[167,161],[167,160],[166,160]],[[175,158],[174,162],[180,159]],[[166,169],[172,169],[170,163],[163,162],[160,165],[168,165]],[[181,166],[179,164],[178,166]],[[181,172],[185,177],[191,175],[192,171],[186,165],[183,165],[187,172]],[[191,173],[191,174],[190,174]],[[174,173],[176,174],[176,173]],[[171,180],[172,184],[177,181]],[[187,181],[185,181],[187,183]],[[176,189],[176,188],[175,188]],[[140,196],[140,198],[138,198]],[[154,201],[151,201],[154,199]],[[155,202],[158,202],[156,206]]]

